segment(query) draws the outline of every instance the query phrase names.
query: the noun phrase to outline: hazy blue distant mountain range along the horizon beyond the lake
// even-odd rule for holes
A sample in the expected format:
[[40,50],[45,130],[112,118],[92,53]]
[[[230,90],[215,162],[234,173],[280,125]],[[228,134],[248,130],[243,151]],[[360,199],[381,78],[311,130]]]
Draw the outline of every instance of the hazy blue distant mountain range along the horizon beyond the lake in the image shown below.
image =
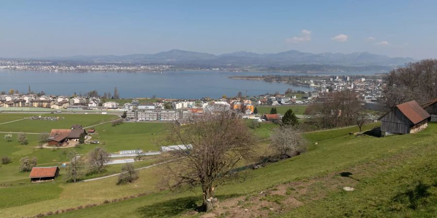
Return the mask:
[[239,51],[229,54],[214,55],[201,52],[173,49],[156,54],[133,55],[93,55],[43,58],[50,61],[72,62],[120,62],[120,63],[166,63],[173,65],[192,66],[258,66],[281,67],[302,64],[338,65],[338,66],[389,66],[395,67],[408,62],[415,62],[412,58],[390,58],[385,55],[371,54],[369,52],[356,52],[351,54],[320,53],[313,54],[297,50],[279,53],[257,54]]

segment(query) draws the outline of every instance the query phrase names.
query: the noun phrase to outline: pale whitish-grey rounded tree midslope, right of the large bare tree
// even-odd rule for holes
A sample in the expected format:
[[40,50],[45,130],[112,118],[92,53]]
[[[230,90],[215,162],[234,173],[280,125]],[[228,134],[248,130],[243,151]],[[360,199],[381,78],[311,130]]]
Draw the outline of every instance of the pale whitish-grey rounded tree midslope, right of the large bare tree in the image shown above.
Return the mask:
[[278,155],[300,154],[306,151],[307,143],[303,139],[299,128],[292,125],[283,125],[272,131],[270,146]]

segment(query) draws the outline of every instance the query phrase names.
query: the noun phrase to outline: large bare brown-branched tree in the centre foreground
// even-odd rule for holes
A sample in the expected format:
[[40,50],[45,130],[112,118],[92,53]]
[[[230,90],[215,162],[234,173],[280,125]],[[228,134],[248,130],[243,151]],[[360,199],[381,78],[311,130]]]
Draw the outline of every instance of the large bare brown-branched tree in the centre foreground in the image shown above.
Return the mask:
[[216,187],[237,175],[236,164],[253,157],[252,131],[229,110],[193,116],[189,125],[172,125],[168,141],[182,143],[189,151],[170,152],[174,164],[163,173],[164,185],[171,190],[200,185],[205,211],[217,202]]

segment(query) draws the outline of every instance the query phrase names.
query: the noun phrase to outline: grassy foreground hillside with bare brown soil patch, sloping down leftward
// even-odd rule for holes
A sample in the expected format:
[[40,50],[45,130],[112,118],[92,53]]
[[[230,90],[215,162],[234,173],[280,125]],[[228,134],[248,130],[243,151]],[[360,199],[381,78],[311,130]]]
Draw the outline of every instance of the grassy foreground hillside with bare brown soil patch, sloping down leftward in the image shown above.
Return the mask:
[[[221,203],[216,210],[197,216],[430,217],[437,212],[437,124],[417,134],[386,138],[349,136],[351,131],[356,128],[305,134],[311,142],[319,142],[318,145],[312,145],[301,156],[244,171],[244,180],[217,188]],[[156,181],[153,174],[142,171],[140,178]],[[191,217],[196,213],[187,211],[194,210],[201,202],[199,192],[160,192],[153,185],[137,189],[136,184],[123,186],[120,192],[116,190],[118,187],[113,187],[114,183],[115,178],[63,186],[62,196],[66,199],[56,201],[67,205],[71,201],[87,201],[93,187],[102,193],[118,193],[107,195],[112,198],[132,191],[149,194],[57,216]],[[346,186],[355,190],[346,192],[342,189]],[[85,190],[88,190],[87,197],[76,200],[85,195],[81,193]],[[70,196],[76,197],[68,200]],[[50,200],[5,208],[2,214],[26,211],[26,216],[34,216],[36,211],[43,212],[52,203]]]

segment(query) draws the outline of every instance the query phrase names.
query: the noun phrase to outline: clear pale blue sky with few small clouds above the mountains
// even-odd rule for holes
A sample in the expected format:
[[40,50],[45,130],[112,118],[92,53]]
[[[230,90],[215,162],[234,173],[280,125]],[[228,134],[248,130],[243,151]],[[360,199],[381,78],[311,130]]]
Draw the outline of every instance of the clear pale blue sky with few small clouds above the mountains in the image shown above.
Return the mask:
[[2,0],[0,57],[370,52],[437,58],[435,0]]

